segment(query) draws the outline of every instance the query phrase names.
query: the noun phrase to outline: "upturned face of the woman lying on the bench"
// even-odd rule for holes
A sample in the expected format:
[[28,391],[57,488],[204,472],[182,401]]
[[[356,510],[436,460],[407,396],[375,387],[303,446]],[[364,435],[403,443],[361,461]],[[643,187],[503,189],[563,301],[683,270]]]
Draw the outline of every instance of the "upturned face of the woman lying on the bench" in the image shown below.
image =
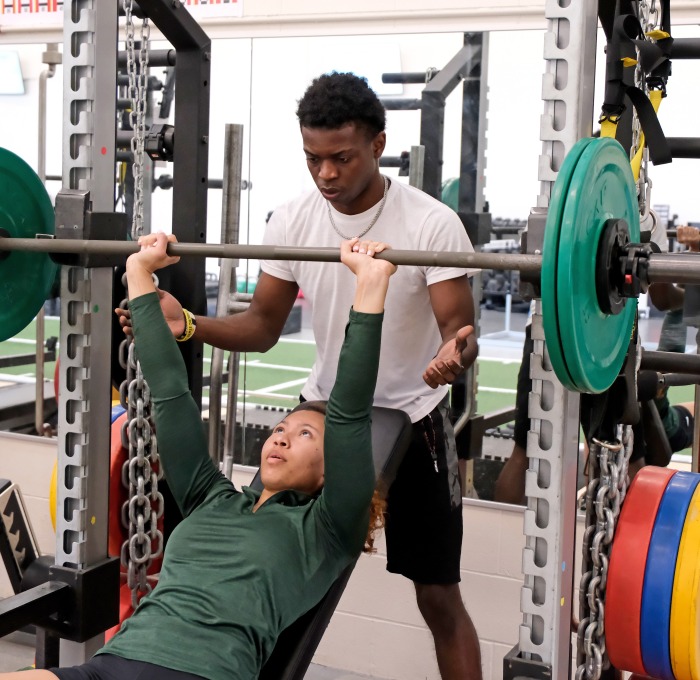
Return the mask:
[[325,419],[316,411],[290,413],[263,444],[260,477],[268,491],[312,495],[323,486]]

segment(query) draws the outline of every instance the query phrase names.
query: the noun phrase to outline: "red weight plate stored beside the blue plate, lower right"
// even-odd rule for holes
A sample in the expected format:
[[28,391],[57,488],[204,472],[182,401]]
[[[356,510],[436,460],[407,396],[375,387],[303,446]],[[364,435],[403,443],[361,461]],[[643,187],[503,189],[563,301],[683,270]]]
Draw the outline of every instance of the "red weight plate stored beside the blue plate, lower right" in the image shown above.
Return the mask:
[[651,465],[635,476],[615,530],[605,596],[605,638],[615,668],[646,675],[640,622],[644,570],[659,504],[675,470]]

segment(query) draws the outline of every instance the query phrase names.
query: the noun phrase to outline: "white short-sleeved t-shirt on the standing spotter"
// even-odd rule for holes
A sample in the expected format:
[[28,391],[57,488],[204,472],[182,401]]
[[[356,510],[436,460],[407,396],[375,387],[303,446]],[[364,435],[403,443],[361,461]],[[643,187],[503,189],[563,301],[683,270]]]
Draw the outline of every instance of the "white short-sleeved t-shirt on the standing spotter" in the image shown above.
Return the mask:
[[[265,230],[264,244],[338,248],[342,239],[331,225],[327,206],[320,192],[313,189],[277,208]],[[348,236],[361,233],[377,208],[375,205],[359,215],[344,215],[331,206],[335,224]],[[396,250],[474,250],[453,210],[397,181],[391,183],[384,210],[366,238],[384,241]],[[328,399],[354,298],[354,275],[334,262],[264,260],[261,268],[271,276],[296,281],[311,305],[316,362],[302,394],[306,399]],[[473,273],[456,267],[400,266],[391,277],[375,406],[402,409],[416,422],[442,400],[447,387],[433,390],[422,378],[442,344],[428,286]]]

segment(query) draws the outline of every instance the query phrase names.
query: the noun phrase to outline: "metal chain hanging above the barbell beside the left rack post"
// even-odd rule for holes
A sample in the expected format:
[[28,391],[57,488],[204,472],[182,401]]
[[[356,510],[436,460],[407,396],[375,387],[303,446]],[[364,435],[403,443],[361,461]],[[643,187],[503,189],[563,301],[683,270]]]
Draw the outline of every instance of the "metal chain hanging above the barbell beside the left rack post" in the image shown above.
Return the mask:
[[146,101],[148,81],[148,41],[151,37],[151,25],[148,17],[141,24],[138,67],[136,65],[136,44],[132,0],[122,0],[126,16],[126,66],[129,75],[129,92],[131,113],[129,123],[134,131],[131,138],[131,151],[134,156],[132,173],[134,175],[134,208],[131,224],[131,237],[136,241],[143,233],[143,158],[146,136]]

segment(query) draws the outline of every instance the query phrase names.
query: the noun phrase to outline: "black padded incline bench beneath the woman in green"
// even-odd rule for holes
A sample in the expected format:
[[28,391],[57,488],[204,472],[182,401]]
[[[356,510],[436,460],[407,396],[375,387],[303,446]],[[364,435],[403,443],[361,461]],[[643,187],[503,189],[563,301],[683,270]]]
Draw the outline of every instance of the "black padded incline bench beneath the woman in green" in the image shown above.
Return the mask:
[[[411,434],[411,421],[403,411],[379,406],[372,409],[372,455],[382,489],[388,490],[396,477]],[[262,489],[259,472],[250,486]],[[345,568],[315,607],[282,631],[259,680],[303,679],[356,563]]]

